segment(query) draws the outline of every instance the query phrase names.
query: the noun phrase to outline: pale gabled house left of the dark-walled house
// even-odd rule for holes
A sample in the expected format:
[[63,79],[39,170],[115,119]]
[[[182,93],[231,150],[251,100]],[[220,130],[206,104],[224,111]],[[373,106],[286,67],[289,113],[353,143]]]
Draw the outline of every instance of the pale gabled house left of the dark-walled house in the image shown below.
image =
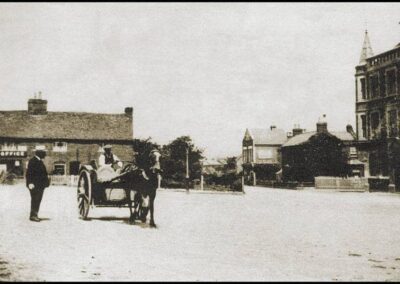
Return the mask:
[[247,179],[274,179],[281,167],[280,148],[288,137],[284,130],[246,129],[242,141],[243,171]]

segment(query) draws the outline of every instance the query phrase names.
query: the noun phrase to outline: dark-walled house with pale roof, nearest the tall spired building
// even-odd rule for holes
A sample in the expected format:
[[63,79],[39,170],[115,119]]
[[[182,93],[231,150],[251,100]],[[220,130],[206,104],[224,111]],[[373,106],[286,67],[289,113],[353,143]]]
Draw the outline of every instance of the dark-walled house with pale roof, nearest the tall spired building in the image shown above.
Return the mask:
[[354,145],[351,126],[329,132],[327,123],[320,121],[316,131],[294,134],[282,145],[283,180],[313,182],[316,176],[345,176],[352,171],[363,175]]

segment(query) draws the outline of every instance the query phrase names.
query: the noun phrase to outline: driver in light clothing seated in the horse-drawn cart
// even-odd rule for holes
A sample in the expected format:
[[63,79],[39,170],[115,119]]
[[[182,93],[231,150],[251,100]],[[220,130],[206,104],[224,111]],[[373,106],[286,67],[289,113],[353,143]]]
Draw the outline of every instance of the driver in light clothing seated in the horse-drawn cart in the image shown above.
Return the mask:
[[[111,148],[111,145],[105,145],[103,147],[104,153],[101,153],[99,157],[97,178],[100,182],[108,181],[118,176],[120,174],[120,169],[122,168],[121,160],[117,155],[112,153]],[[115,165],[118,166],[118,169],[115,169]]]

